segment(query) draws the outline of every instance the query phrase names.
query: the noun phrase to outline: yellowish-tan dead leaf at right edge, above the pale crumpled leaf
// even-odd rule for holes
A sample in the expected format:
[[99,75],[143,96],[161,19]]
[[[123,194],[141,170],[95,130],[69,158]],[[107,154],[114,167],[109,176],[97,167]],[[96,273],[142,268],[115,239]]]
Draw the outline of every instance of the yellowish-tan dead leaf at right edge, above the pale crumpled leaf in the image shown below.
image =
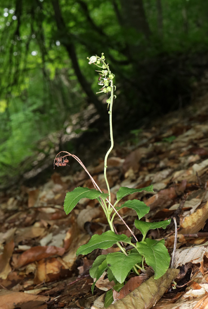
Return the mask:
[[197,209],[193,214],[184,218],[184,222],[180,226],[180,234],[197,233],[203,229],[207,218],[208,202],[202,208]]

